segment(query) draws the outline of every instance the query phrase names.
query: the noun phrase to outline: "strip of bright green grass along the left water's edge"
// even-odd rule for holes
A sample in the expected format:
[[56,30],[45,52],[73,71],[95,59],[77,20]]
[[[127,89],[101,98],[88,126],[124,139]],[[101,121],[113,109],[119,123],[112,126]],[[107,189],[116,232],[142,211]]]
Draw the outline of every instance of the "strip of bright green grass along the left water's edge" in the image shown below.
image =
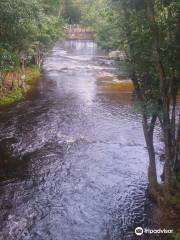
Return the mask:
[[29,67],[26,69],[26,79],[24,88],[16,86],[7,95],[0,98],[0,107],[6,107],[22,100],[25,95],[32,89],[37,79],[41,75],[41,70],[37,66]]

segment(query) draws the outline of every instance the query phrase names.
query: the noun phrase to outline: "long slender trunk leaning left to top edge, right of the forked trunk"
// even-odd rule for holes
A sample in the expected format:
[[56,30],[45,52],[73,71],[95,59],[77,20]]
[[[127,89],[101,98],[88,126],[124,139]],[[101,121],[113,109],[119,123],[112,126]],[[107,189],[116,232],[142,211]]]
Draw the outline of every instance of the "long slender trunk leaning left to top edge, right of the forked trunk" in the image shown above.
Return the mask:
[[154,11],[154,0],[147,0],[147,13],[148,19],[150,22],[150,30],[153,36],[153,50],[155,52],[154,59],[155,59],[155,67],[157,73],[159,75],[160,80],[160,94],[162,100],[162,121],[163,121],[163,135],[164,135],[164,143],[165,143],[165,154],[166,154],[166,161],[164,166],[164,175],[165,175],[165,182],[164,182],[164,190],[165,196],[169,198],[170,195],[170,188],[171,188],[171,179],[172,179],[172,143],[171,143],[171,121],[170,121],[170,98],[169,98],[169,82],[166,78],[164,66],[161,59],[161,51],[160,51],[160,44],[159,44],[159,30],[158,25],[155,19],[155,11]]

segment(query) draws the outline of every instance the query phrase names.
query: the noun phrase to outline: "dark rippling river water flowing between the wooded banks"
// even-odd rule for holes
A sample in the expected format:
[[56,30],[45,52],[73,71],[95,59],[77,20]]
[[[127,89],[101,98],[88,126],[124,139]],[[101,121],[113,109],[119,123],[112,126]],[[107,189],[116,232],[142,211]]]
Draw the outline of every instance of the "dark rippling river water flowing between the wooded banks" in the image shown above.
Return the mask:
[[[131,96],[96,44],[57,45],[38,89],[0,115],[0,239],[134,239],[150,202],[147,153]],[[11,159],[11,160],[10,160]]]

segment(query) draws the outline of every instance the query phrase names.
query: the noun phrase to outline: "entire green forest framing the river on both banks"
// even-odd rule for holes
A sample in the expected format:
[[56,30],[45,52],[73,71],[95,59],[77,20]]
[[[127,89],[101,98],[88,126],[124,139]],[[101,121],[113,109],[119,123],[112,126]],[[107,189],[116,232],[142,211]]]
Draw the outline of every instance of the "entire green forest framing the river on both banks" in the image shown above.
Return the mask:
[[[173,210],[178,217],[180,1],[1,0],[0,10],[2,102],[12,101],[7,88],[13,91],[13,99],[21,98],[24,82],[39,76],[45,54],[65,38],[69,24],[91,27],[101,48],[125,53],[149,155],[149,192],[159,206]],[[10,73],[19,75],[8,87]],[[161,183],[157,180],[156,127],[161,129],[164,144]]]

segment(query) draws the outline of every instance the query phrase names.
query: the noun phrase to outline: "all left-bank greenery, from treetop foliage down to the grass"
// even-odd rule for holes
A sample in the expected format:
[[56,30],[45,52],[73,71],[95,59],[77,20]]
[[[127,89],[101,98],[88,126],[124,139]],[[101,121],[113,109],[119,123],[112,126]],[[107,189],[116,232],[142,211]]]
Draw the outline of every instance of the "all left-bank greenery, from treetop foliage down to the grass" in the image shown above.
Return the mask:
[[[27,67],[33,74],[32,66],[40,67],[44,53],[63,36],[65,20],[58,15],[59,5],[56,0],[0,1],[0,105],[22,98]],[[9,86],[13,72],[21,81],[14,78]]]

